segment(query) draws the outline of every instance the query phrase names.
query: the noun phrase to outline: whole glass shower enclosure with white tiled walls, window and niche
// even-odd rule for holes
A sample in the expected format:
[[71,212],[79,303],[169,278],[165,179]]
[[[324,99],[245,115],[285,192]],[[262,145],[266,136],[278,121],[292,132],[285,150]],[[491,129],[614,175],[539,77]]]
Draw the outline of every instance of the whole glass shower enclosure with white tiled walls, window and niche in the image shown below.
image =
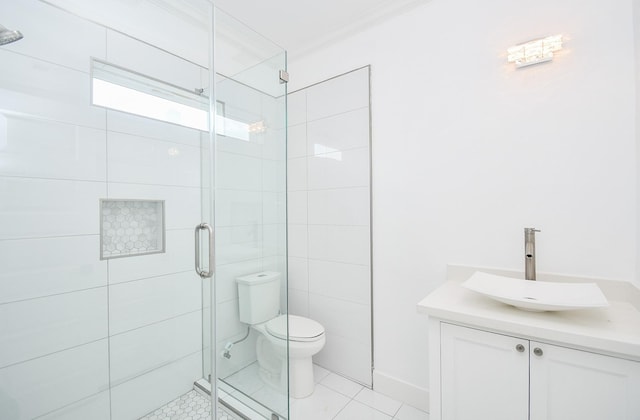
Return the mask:
[[0,17],[0,418],[287,418],[235,282],[286,313],[285,51],[207,0]]

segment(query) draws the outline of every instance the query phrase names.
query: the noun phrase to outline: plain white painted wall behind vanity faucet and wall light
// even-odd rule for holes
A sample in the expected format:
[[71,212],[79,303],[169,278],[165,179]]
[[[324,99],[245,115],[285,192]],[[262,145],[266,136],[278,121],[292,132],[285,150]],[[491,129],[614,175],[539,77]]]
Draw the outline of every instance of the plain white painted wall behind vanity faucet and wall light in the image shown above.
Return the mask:
[[[507,47],[563,33],[552,63]],[[291,88],[372,66],[377,372],[427,386],[415,304],[447,263],[630,281],[636,259],[631,0],[432,0],[311,55]],[[374,376],[374,387],[375,376]]]

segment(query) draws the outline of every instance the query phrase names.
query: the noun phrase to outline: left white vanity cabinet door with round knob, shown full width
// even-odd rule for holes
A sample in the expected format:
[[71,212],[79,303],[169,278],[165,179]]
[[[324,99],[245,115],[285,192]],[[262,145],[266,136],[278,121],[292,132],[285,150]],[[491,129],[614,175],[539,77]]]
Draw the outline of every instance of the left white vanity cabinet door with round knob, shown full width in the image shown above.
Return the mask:
[[444,322],[440,334],[442,420],[529,418],[528,340]]

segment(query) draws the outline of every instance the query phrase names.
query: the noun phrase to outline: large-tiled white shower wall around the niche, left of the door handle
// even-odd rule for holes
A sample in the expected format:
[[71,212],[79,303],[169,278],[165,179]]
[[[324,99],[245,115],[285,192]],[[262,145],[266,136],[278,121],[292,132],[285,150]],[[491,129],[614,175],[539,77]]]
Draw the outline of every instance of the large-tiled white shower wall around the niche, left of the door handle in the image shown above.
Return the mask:
[[[28,34],[0,50],[0,417],[138,418],[202,377],[201,133],[91,106],[90,57],[206,71],[39,1],[0,16]],[[100,198],[165,200],[166,253],[100,261]]]

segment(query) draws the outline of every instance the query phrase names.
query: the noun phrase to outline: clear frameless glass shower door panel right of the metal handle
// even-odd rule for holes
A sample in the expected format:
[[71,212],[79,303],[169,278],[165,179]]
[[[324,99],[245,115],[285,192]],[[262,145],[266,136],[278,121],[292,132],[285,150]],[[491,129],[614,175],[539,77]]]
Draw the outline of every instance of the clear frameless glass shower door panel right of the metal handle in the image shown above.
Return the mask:
[[288,418],[286,348],[269,366],[258,360],[259,333],[240,321],[236,282],[242,276],[278,273],[275,305],[287,312],[286,83],[281,80],[286,53],[218,9],[214,30],[215,275],[210,299],[216,302],[215,351],[205,370],[214,372],[223,406],[246,410],[250,418]]

